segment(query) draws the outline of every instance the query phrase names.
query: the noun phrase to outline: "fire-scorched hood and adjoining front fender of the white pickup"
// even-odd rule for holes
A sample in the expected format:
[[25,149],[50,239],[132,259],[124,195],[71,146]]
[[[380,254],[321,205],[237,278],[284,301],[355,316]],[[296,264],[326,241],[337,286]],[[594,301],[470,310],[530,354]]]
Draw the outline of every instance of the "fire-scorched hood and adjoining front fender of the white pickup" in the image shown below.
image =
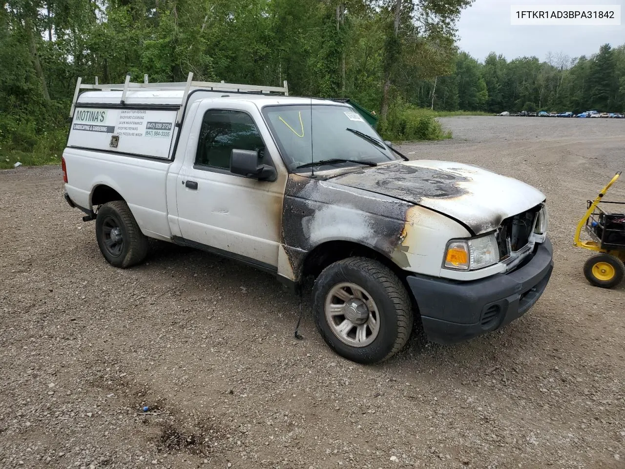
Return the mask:
[[316,176],[290,174],[286,184],[282,265],[295,281],[306,256],[326,241],[358,243],[401,268],[439,276],[449,239],[493,231],[502,219],[544,201],[544,194],[517,179],[447,161]]

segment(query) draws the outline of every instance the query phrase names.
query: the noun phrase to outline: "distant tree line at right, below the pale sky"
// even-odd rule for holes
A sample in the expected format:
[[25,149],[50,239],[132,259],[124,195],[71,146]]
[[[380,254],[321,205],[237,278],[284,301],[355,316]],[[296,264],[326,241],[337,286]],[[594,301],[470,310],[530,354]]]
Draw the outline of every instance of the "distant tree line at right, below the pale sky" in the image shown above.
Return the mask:
[[434,109],[446,111],[623,112],[625,45],[604,44],[590,57],[547,53],[544,61],[507,61],[490,53],[480,63],[462,52],[456,56],[454,73],[428,79],[415,91],[419,106],[433,102]]

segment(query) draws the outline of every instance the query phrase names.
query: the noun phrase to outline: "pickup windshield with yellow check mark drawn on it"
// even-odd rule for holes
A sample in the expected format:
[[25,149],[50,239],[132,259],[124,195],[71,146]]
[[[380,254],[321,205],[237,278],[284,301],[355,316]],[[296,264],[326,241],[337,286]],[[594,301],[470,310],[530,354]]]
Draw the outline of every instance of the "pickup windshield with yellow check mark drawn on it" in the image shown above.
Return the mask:
[[[326,104],[266,106],[262,113],[291,171],[311,171],[309,164],[317,161],[326,163],[319,166],[339,167],[360,166],[357,161],[384,163],[396,159],[353,108]],[[336,159],[352,161],[328,162]],[[302,164],[308,167],[297,168]]]

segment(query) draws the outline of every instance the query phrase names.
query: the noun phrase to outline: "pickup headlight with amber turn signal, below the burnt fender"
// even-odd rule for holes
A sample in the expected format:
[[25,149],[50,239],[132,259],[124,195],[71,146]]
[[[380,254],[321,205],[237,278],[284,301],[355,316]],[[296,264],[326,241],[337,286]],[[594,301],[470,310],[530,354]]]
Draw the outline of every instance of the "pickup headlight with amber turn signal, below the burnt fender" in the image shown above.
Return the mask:
[[499,262],[499,248],[495,235],[471,240],[452,240],[447,243],[444,266],[458,270],[476,270]]

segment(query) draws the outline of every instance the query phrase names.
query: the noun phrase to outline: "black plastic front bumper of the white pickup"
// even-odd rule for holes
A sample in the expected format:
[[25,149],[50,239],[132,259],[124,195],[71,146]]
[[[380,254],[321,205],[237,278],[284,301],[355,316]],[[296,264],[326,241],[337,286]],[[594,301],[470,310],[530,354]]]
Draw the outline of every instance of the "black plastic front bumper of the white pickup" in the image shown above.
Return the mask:
[[526,265],[480,280],[407,277],[428,340],[441,344],[461,342],[523,315],[547,286],[553,270],[552,252],[547,238]]

